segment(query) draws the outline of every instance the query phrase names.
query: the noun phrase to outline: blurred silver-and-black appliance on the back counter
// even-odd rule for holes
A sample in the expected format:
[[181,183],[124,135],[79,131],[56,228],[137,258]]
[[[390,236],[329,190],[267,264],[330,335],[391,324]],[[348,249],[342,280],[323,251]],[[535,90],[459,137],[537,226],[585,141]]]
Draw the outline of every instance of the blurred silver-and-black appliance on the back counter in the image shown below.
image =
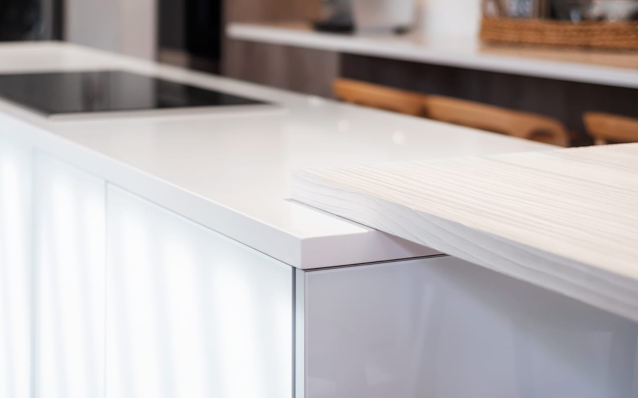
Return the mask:
[[415,0],[322,0],[318,31],[396,31],[412,27]]

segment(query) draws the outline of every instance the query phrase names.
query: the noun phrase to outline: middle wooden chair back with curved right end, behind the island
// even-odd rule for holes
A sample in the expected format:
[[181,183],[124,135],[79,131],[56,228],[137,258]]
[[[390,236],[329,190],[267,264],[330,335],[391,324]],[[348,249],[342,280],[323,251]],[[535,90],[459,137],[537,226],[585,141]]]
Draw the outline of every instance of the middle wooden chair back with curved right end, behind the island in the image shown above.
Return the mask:
[[450,97],[425,96],[423,101],[424,115],[434,120],[554,145],[570,143],[565,127],[554,118]]

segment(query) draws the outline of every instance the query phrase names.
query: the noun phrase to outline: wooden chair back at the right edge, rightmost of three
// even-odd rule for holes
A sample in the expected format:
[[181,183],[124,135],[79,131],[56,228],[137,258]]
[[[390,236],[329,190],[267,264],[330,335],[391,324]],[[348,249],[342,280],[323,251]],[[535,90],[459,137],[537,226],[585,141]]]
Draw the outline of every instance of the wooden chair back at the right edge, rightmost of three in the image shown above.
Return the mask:
[[582,120],[596,145],[638,142],[638,119],[636,118],[587,112]]

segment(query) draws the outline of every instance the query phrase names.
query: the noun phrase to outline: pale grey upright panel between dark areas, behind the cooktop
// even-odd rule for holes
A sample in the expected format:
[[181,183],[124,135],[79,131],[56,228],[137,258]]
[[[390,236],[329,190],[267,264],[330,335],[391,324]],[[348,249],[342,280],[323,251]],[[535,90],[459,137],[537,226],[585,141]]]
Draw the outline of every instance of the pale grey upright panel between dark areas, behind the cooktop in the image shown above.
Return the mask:
[[66,0],[64,39],[154,59],[155,3],[154,0]]

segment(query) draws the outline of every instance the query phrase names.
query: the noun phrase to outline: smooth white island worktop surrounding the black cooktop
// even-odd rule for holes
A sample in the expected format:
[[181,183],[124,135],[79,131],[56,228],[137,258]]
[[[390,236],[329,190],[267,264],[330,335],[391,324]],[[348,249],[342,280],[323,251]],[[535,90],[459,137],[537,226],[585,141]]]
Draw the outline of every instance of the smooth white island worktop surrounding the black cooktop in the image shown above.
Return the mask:
[[0,73],[108,68],[226,90],[280,107],[48,120],[0,101],[0,126],[44,152],[304,269],[436,252],[289,201],[295,169],[552,148],[76,45],[0,45]]

